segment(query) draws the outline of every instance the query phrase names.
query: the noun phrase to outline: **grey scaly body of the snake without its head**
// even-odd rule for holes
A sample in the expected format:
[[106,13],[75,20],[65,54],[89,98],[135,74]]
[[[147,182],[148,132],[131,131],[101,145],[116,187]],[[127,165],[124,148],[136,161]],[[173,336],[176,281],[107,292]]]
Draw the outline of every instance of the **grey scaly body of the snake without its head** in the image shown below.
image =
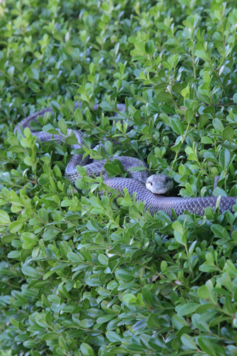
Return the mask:
[[[76,103],[74,110],[81,106],[81,103]],[[98,109],[98,104],[94,106],[94,110]],[[124,104],[117,104],[117,109],[120,111],[126,111],[126,107]],[[34,113],[28,117],[25,117],[15,128],[15,132],[21,132],[21,127],[25,129],[25,127],[29,127],[30,131],[39,139],[41,142],[47,142],[52,140],[52,134],[48,134],[47,132],[34,132],[32,128],[30,128],[30,121],[37,122],[37,116],[43,116],[45,113],[50,112],[52,113],[51,108],[45,108],[43,110]],[[71,130],[67,130],[67,136],[62,134],[59,129],[57,129],[59,134],[54,134],[53,139],[56,142],[62,142],[67,136],[69,136]],[[74,130],[74,134],[79,142],[79,144],[72,145],[73,149],[79,149],[82,147],[83,141],[83,134],[77,130]],[[179,216],[185,212],[185,209],[192,213],[202,216],[204,214],[204,209],[206,207],[212,207],[215,209],[216,207],[216,200],[217,197],[190,197],[190,198],[183,198],[183,197],[166,197],[163,195],[157,195],[151,193],[151,191],[146,189],[146,180],[149,176],[147,171],[140,171],[140,172],[129,172],[129,178],[108,178],[107,173],[105,171],[104,163],[105,160],[102,161],[93,161],[92,163],[88,163],[88,159],[82,159],[83,155],[76,155],[74,154],[71,157],[71,160],[67,164],[65,170],[65,177],[71,181],[71,183],[75,183],[76,179],[81,178],[80,174],[76,171],[76,166],[85,166],[86,167],[86,174],[88,176],[93,177],[100,176],[100,171],[102,169],[103,172],[103,179],[105,185],[108,185],[110,188],[123,192],[125,188],[129,195],[132,197],[133,193],[137,193],[136,200],[141,200],[144,202],[145,209],[149,209],[151,214],[162,210],[166,212],[172,217],[171,209],[174,209],[175,214]],[[127,168],[137,167],[137,166],[145,166],[147,167],[146,163],[143,161],[136,159],[134,157],[128,156],[118,156],[116,157],[121,163],[125,171]],[[102,194],[101,192],[99,193]],[[233,211],[233,205],[236,204],[236,197],[221,197],[221,201],[219,204],[219,212],[222,214],[226,210]]]

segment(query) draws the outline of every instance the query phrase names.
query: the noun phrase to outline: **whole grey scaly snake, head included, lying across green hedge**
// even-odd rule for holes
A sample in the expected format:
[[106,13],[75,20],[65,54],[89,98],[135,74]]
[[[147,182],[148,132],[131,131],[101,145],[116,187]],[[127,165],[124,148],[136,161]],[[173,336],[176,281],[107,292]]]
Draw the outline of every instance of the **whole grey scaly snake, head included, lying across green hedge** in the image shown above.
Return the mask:
[[[82,107],[82,103],[75,103],[74,110]],[[94,105],[93,110],[97,110],[99,104]],[[117,104],[117,111],[126,111],[125,104]],[[35,131],[31,127],[30,122],[33,121],[37,123],[37,117],[43,117],[45,113],[53,113],[51,108],[45,108],[28,117],[21,120],[21,122],[16,125],[14,132],[18,134],[23,134],[23,130],[28,127],[30,132],[40,142],[48,142],[54,140],[55,142],[62,142],[65,138],[71,135],[71,129],[67,129],[67,135],[62,134],[59,129],[57,130],[58,134],[49,134],[44,131]],[[116,114],[117,115],[117,114]],[[78,141],[78,144],[73,144],[72,149],[81,149],[83,146],[83,132],[79,130],[73,130],[74,135]],[[20,137],[21,139],[21,137]],[[104,168],[104,164],[108,162],[103,159],[100,161],[93,160],[90,163],[90,157],[83,159],[83,154],[73,154],[69,163],[65,168],[64,176],[67,178],[73,185],[78,178],[81,178],[81,175],[76,171],[76,166],[84,166],[86,168],[86,175],[95,178],[95,176],[100,176],[102,171],[103,174],[103,183],[108,187],[123,193],[125,188],[132,198],[134,193],[136,193],[136,201],[141,201],[144,203],[144,209],[149,210],[149,212],[154,215],[156,212],[163,211],[166,212],[171,218],[173,218],[173,212],[176,216],[190,212],[191,214],[196,214],[199,216],[204,215],[204,210],[207,207],[216,208],[217,197],[171,197],[166,196],[166,194],[173,187],[173,180],[170,176],[163,174],[149,175],[149,167],[140,159],[129,156],[116,156],[122,163],[122,167],[125,171],[133,167],[143,167],[144,170],[140,171],[128,171],[128,178],[123,177],[108,177],[107,171]],[[110,158],[112,161],[112,158]],[[124,193],[123,193],[124,194]],[[103,195],[103,192],[99,192],[99,195]],[[222,214],[226,210],[234,212],[233,205],[236,204],[236,197],[221,197],[219,201],[219,213]],[[173,209],[173,210],[172,210]]]

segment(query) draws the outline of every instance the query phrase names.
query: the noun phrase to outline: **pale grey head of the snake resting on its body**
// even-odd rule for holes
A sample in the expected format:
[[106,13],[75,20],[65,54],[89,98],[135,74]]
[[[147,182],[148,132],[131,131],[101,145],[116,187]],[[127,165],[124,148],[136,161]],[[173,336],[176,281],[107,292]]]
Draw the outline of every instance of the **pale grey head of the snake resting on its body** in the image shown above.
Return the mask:
[[146,180],[146,189],[155,194],[168,193],[173,188],[173,179],[165,174],[154,174]]

